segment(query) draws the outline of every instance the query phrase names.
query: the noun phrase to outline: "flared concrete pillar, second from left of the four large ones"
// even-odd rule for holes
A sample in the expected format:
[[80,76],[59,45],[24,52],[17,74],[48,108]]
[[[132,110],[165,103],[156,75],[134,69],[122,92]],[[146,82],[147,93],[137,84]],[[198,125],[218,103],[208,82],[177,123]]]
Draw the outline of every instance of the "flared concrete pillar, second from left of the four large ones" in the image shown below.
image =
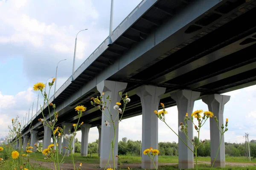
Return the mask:
[[[154,111],[158,111],[160,96],[165,91],[166,88],[149,85],[144,85],[137,91],[142,106],[142,150],[149,147],[158,149],[158,118]],[[154,158],[154,163],[158,168],[158,156]],[[142,154],[141,168],[154,169],[153,161],[149,159],[148,155]]]

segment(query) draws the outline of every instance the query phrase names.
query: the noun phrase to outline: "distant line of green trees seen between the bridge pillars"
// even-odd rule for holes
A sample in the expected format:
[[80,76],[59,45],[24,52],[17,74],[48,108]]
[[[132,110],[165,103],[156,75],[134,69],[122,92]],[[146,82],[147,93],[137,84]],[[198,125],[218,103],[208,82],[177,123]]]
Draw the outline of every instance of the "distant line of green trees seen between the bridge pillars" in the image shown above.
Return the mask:
[[[198,142],[198,138],[195,136],[194,141]],[[98,152],[98,142],[88,144],[88,154]],[[201,147],[198,148],[198,156],[210,156],[210,140],[200,140],[199,144]],[[158,150],[160,151],[160,156],[178,156],[178,144],[176,142],[159,142]],[[76,139],[75,142],[75,152],[80,153],[81,142]],[[122,138],[122,141],[118,142],[118,155],[131,155],[140,156],[141,153],[141,141],[133,141],[131,139]],[[225,154],[228,156],[246,156],[246,145],[245,143],[227,143],[225,142]],[[250,141],[250,155],[256,158],[256,140]]]

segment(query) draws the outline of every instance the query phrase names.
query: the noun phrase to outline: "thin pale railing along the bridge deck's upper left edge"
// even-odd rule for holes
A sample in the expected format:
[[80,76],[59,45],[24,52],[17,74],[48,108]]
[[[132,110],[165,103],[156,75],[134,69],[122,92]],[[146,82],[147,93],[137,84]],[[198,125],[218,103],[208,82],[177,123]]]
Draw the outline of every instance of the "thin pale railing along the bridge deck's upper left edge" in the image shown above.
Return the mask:
[[[128,18],[130,18],[139,8],[140,8],[140,6],[142,6],[143,5],[143,3],[145,3],[145,1],[147,1],[147,0],[142,0],[135,8],[134,8],[134,10],[132,10],[131,11],[131,13],[130,14],[128,14],[128,16],[127,17],[125,17],[125,19],[124,20],[122,20],[122,22],[113,30],[113,32],[112,32],[112,35],[113,34],[115,34],[116,33],[116,31],[122,26],[122,25],[124,25],[125,23],[126,23],[126,21],[128,20]],[[75,73],[77,72],[77,71],[79,71],[79,69],[108,41],[108,39],[109,39],[109,36],[93,51],[93,53],[92,54],[90,54],[90,56],[89,57],[87,57],[87,59],[85,59],[85,61],[79,66],[79,68],[77,68],[76,69],[76,71],[75,71]],[[63,83],[63,85],[61,85],[61,87],[60,88],[58,88],[58,90],[55,92],[55,94],[57,94],[58,93],[58,91],[60,91],[68,82],[69,82],[69,80],[70,79],[72,79],[72,75],[66,80],[66,82],[64,82]],[[71,80],[70,80],[70,82],[71,82]],[[49,100],[53,100],[54,99],[54,94],[52,95],[52,97],[49,99]],[[38,112],[38,111],[37,111]],[[39,113],[41,113],[41,111],[39,112]],[[29,122],[27,122],[26,123],[26,125],[24,125],[25,127],[26,126],[28,126],[29,124],[30,124],[30,122],[33,120],[33,119],[35,119],[35,117],[37,116],[38,114],[36,113],[33,117],[32,117],[32,119],[30,119],[30,121]]]

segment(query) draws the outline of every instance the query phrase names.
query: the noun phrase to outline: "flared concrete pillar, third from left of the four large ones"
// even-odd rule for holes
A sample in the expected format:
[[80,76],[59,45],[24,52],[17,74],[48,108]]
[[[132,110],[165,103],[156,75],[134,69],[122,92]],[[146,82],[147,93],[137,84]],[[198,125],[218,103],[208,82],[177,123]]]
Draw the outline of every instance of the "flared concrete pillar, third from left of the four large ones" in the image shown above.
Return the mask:
[[[200,92],[181,90],[171,94],[172,99],[177,103],[178,108],[178,126],[180,122],[184,123],[184,117],[186,113],[193,113],[194,102],[200,96]],[[188,146],[193,150],[193,145],[189,140],[194,139],[193,130],[194,126],[191,121],[187,121],[188,125],[188,140],[186,142],[186,136],[184,133],[178,132],[181,139],[188,144]],[[194,154],[189,148],[179,139],[178,141],[178,154],[179,154],[179,169],[189,169],[194,168]]]

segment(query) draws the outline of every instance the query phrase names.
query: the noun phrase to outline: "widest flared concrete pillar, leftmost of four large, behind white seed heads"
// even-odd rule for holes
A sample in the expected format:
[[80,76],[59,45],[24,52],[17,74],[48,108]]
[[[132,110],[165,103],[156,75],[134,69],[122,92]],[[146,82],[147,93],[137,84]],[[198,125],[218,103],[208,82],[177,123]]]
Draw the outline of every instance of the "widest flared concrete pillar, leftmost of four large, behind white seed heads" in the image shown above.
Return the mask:
[[[111,98],[111,104],[109,105],[109,110],[111,114],[113,115],[113,119],[116,118],[116,116],[119,114],[118,111],[116,111],[113,106],[116,105],[116,102],[120,102],[121,97],[119,96],[120,91],[124,91],[127,86],[127,83],[124,82],[113,82],[104,80],[100,82],[97,85],[97,90],[102,94],[105,92],[105,95],[102,97],[103,101],[107,102],[106,96],[110,96]],[[107,102],[108,103],[108,102]],[[105,110],[105,114],[110,116],[107,110]],[[113,125],[111,127],[108,127],[105,125],[105,120],[110,121],[107,116],[105,116],[104,113],[102,113],[102,130],[101,130],[101,148],[104,148],[104,150],[100,150],[100,167],[103,168],[108,163],[108,157],[109,157],[109,151],[111,148],[111,140],[114,139],[114,132],[113,132]],[[115,126],[118,125],[118,121],[115,122]],[[118,154],[118,127],[116,128],[116,140],[114,145],[114,156]],[[117,157],[114,157],[115,159],[115,166],[117,167]],[[111,167],[113,167],[113,158],[111,156],[109,164]]]

